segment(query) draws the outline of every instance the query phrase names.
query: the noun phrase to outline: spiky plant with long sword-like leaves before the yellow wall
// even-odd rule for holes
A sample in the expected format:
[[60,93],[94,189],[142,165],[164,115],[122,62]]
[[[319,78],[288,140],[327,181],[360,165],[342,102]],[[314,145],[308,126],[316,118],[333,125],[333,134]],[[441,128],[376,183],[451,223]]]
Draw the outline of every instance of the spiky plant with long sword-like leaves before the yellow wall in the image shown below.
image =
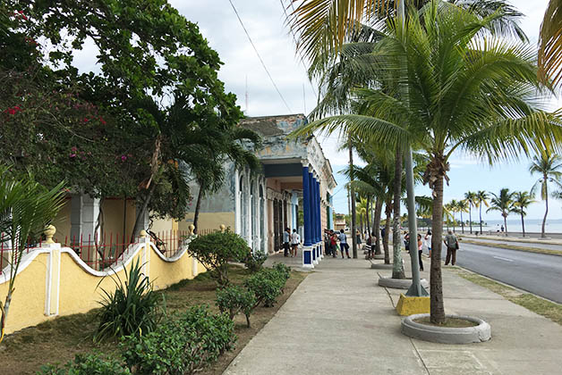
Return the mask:
[[104,297],[99,302],[101,309],[98,312],[96,340],[141,335],[157,326],[161,317],[158,309],[160,297],[152,290],[152,284],[141,267],[139,261],[132,261],[131,270],[125,268],[124,282],[116,275],[112,276],[116,285],[114,293],[102,289]]

